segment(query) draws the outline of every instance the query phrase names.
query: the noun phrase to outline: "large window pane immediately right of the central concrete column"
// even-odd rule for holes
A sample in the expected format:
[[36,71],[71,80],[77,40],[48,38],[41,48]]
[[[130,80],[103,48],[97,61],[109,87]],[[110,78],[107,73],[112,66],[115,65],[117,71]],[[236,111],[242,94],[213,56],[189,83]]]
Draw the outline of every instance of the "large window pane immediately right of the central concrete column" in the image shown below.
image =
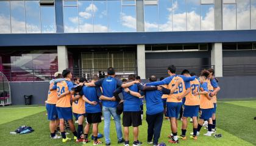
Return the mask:
[[158,31],[158,7],[157,5],[144,6],[144,29],[145,32]]

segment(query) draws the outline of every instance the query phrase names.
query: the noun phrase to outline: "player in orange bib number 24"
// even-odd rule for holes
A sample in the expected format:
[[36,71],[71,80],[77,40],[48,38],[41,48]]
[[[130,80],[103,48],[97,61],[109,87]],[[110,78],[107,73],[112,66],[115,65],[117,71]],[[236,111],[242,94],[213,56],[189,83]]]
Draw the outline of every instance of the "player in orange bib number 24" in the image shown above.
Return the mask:
[[73,83],[70,81],[72,78],[71,71],[65,69],[62,72],[65,81],[57,83],[52,89],[57,89],[58,100],[56,103],[58,117],[60,119],[60,133],[62,134],[62,142],[70,141],[71,139],[66,137],[65,134],[65,125],[64,120],[68,120],[69,128],[74,134],[74,139],[77,139],[77,132],[73,123],[73,115],[71,109],[71,95],[74,91],[71,91],[73,88]]

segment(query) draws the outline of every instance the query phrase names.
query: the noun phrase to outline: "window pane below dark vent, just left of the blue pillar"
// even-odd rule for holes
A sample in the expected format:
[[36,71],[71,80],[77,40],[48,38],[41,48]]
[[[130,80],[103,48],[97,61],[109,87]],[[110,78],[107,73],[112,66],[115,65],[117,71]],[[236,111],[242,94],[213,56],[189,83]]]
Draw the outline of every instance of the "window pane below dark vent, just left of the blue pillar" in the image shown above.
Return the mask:
[[41,6],[41,32],[52,33],[55,30],[55,10],[52,6]]

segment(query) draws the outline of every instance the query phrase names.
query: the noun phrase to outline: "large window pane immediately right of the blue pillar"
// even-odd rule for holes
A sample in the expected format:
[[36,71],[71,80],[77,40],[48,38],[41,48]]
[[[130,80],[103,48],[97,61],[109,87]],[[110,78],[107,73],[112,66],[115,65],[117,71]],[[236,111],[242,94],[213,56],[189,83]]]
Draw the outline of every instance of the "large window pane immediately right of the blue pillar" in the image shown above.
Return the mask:
[[79,32],[76,6],[63,7],[64,31]]

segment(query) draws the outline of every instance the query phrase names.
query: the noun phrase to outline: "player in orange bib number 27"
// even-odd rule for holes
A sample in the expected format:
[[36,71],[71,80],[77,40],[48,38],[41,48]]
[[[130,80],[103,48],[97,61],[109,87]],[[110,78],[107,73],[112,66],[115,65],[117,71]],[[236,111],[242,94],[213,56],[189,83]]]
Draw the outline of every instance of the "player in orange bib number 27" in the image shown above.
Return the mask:
[[[190,72],[187,69],[182,71],[182,75],[186,77],[191,77]],[[190,88],[181,96],[182,98],[185,97],[185,104],[184,104],[184,111],[182,117],[182,134],[180,135],[180,139],[186,139],[186,132],[187,132],[187,124],[188,124],[188,117],[192,117],[193,119],[193,136],[191,138],[197,139],[197,116],[199,113],[199,105],[200,99],[199,95],[195,95],[195,93],[199,92],[200,82],[195,78],[193,81],[190,81]]]

